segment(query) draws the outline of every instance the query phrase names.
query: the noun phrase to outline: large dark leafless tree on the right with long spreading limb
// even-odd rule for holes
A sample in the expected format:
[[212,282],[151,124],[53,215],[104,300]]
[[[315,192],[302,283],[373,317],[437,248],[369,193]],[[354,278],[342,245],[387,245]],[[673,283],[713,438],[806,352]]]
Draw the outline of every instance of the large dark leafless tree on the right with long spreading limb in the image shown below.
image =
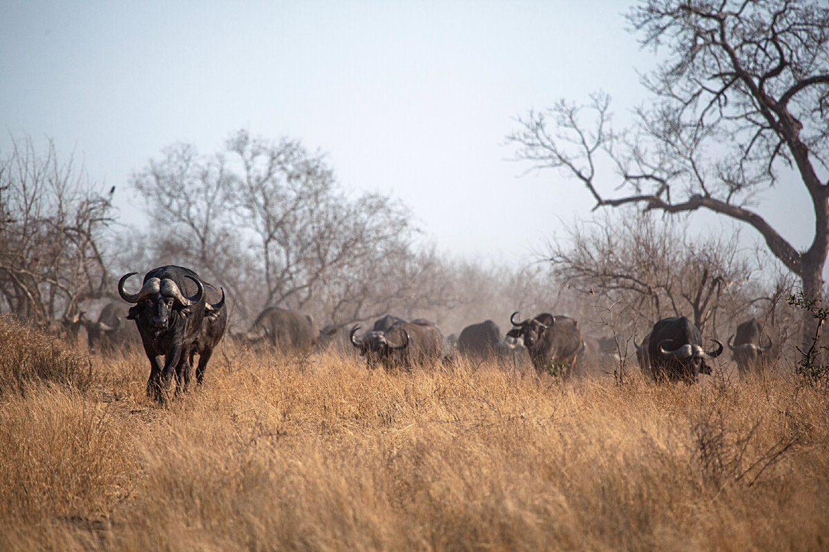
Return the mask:
[[[829,252],[829,8],[806,0],[648,0],[628,13],[664,62],[642,78],[652,99],[615,131],[607,94],[518,118],[508,140],[533,168],[558,168],[600,206],[696,209],[754,227],[769,251],[822,296]],[[599,181],[606,156],[621,182]],[[753,195],[797,181],[815,234],[798,251],[751,209]],[[798,185],[799,185],[798,184]],[[604,190],[613,190],[607,194]]]

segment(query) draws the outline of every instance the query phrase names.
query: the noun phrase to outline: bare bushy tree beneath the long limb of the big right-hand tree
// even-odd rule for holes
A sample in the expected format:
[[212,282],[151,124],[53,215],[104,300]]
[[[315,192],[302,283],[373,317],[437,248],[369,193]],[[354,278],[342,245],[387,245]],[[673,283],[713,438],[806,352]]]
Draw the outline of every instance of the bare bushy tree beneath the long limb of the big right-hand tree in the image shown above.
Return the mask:
[[624,325],[639,330],[680,315],[704,329],[718,313],[744,310],[758,283],[736,235],[692,238],[685,225],[649,214],[575,224],[566,244],[550,245],[550,262],[563,285],[623,310]]

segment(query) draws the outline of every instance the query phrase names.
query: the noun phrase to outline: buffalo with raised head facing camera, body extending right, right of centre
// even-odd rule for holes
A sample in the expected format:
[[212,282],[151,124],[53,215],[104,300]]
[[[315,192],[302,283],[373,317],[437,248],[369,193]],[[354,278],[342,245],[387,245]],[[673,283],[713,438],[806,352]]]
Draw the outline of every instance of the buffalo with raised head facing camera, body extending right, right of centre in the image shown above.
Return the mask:
[[518,311],[510,316],[514,326],[507,336],[523,338],[532,365],[539,373],[555,372],[569,376],[582,347],[579,323],[567,316],[542,313],[536,318],[516,322]]

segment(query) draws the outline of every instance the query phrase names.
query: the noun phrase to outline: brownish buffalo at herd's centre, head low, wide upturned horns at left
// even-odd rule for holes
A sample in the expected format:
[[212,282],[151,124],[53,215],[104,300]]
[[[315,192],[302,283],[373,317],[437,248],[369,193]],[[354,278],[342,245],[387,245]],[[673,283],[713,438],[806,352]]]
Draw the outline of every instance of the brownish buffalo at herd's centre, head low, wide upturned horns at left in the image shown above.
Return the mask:
[[433,324],[400,320],[384,331],[372,330],[356,337],[360,326],[351,329],[351,344],[366,357],[370,368],[381,364],[386,370],[395,367],[410,370],[415,365],[434,366],[440,361],[444,343]]

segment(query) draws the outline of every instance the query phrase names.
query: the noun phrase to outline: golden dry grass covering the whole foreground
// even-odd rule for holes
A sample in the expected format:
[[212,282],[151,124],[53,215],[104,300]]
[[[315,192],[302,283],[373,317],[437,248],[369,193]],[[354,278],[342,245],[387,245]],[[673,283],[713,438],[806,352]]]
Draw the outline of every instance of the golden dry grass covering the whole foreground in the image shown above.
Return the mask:
[[2,550],[827,550],[829,391],[141,352],[0,320]]

